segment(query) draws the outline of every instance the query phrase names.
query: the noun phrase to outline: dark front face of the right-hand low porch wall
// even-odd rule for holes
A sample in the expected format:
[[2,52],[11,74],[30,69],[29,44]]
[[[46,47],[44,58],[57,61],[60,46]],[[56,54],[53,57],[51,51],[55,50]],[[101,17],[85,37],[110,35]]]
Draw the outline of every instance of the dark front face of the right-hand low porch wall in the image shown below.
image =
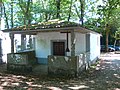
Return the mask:
[[77,62],[77,56],[48,56],[48,74],[76,75]]

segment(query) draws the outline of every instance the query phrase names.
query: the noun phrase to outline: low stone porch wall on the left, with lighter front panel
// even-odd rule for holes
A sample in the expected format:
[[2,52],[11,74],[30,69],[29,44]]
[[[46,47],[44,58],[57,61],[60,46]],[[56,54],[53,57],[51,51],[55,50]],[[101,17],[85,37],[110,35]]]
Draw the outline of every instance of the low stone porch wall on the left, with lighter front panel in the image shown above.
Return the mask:
[[7,54],[8,71],[31,72],[36,63],[34,51]]

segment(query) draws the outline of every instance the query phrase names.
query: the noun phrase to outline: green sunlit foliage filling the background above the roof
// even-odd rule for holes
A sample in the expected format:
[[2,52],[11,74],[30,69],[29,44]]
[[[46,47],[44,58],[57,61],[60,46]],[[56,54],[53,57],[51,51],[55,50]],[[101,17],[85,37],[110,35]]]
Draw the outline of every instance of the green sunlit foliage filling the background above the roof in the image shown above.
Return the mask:
[[[13,18],[14,27],[24,25],[30,21],[38,23],[56,19],[56,0],[13,0]],[[120,1],[119,0],[104,0],[103,4],[97,7],[99,0],[83,0],[83,19],[84,26],[98,31],[105,32],[105,25],[108,24],[112,28],[120,26]],[[6,8],[8,22],[10,23],[10,4],[11,0],[3,0]],[[70,5],[72,2],[71,12]],[[70,20],[79,22],[81,20],[81,0],[60,0],[60,19],[67,20],[70,15]],[[97,10],[98,9],[98,10]],[[27,11],[28,10],[28,11]],[[10,25],[10,24],[9,24]],[[114,29],[115,31],[117,29]],[[114,31],[113,30],[113,31]]]

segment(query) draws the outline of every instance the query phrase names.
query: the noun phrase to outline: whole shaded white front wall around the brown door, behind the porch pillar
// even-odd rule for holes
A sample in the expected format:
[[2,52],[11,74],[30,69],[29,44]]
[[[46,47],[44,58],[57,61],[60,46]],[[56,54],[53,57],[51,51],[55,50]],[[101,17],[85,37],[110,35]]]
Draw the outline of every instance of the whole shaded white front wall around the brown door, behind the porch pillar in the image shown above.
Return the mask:
[[[76,34],[76,45],[75,45],[75,54],[79,55],[82,52],[85,52],[85,34],[75,33]],[[51,55],[51,40],[53,41],[65,41],[66,43],[66,34],[60,32],[43,32],[36,35],[36,57],[38,58],[39,63],[47,64],[47,57]],[[71,51],[71,35],[69,33],[69,49]],[[67,56],[71,55],[71,52],[66,53]]]

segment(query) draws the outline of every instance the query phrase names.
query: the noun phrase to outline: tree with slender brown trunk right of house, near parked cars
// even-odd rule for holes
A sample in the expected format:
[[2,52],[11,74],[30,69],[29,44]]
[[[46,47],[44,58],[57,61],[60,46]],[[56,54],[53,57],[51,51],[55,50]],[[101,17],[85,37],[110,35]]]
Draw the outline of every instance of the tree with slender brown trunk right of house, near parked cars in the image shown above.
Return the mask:
[[[104,30],[106,33],[106,51],[108,51],[108,37],[110,33],[110,27],[114,23],[113,18],[114,14],[113,12],[120,8],[120,1],[119,0],[105,0],[105,5],[99,6],[99,14],[104,20]],[[101,13],[100,13],[101,12]]]

